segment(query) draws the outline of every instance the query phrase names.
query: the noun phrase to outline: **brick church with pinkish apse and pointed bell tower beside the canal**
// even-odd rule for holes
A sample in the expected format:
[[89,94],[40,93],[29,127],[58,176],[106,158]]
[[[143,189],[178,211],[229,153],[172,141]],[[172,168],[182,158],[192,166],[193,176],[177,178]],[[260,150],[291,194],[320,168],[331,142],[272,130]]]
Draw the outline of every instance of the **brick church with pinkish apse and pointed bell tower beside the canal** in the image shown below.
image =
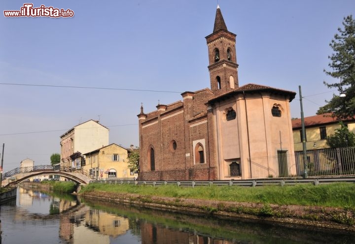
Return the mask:
[[[289,103],[296,93],[239,86],[236,34],[217,6],[206,36],[210,88],[181,93],[139,120],[144,181],[216,181],[284,177],[296,172]],[[274,163],[276,161],[276,163]]]

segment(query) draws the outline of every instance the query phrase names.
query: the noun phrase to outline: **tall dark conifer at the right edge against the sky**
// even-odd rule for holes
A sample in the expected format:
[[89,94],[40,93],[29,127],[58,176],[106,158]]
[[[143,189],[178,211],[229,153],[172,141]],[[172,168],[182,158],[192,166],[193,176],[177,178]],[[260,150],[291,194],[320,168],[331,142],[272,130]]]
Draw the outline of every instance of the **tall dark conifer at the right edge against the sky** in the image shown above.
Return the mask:
[[324,85],[328,88],[336,88],[338,92],[345,93],[345,97],[333,94],[327,104],[320,107],[317,114],[333,113],[338,118],[353,117],[355,114],[355,19],[352,15],[344,17],[343,29],[338,28],[339,33],[334,35],[329,46],[334,53],[328,56],[328,66],[332,71],[324,72],[339,79],[338,83]]

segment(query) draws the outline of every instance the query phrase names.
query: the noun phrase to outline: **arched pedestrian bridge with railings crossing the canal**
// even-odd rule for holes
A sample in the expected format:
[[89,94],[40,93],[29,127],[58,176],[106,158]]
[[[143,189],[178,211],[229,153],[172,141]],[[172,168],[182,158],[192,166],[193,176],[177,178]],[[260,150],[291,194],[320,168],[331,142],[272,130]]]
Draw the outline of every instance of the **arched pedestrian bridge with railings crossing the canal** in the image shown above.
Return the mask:
[[39,165],[34,167],[22,167],[10,170],[2,174],[1,186],[15,186],[35,176],[57,175],[69,179],[78,185],[88,184],[95,180],[93,176],[84,170],[69,170],[62,168],[55,170],[52,165]]

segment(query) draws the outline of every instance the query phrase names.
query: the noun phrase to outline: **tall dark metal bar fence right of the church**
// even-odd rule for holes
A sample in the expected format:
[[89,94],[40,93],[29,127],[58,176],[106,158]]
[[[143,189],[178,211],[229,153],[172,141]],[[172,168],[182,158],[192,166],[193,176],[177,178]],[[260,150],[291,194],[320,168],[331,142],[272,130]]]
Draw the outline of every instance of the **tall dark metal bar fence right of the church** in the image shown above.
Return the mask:
[[303,152],[250,158],[251,178],[302,177],[305,165],[308,176],[355,175],[355,147],[309,150],[303,158]]

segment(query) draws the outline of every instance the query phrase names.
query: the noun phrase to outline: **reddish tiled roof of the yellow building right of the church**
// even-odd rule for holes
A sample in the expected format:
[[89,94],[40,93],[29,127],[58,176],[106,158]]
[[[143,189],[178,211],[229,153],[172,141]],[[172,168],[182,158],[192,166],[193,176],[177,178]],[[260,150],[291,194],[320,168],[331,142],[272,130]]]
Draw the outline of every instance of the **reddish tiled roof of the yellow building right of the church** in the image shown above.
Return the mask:
[[[354,120],[355,120],[354,118],[349,118],[349,119],[342,120],[342,121],[354,121]],[[331,113],[315,115],[315,116],[310,116],[310,117],[304,118],[305,127],[318,126],[318,125],[328,124],[328,123],[338,123],[338,121],[339,121],[338,118],[332,116]],[[292,122],[293,129],[302,127],[301,119],[295,119],[295,120],[292,120],[291,122]]]

